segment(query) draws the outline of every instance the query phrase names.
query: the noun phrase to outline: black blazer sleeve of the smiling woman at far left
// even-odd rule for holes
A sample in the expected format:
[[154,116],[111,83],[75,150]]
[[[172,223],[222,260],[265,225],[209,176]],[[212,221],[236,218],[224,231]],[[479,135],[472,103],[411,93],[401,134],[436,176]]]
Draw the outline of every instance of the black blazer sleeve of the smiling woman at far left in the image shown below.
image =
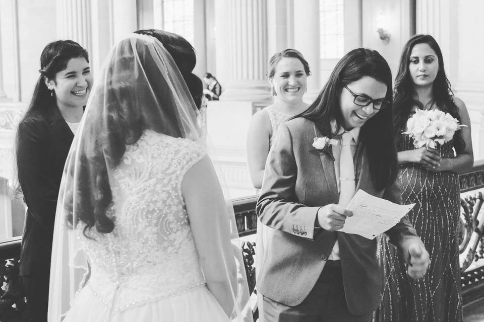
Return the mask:
[[19,125],[17,169],[25,203],[41,225],[53,229],[59,185],[47,170],[48,140],[47,124],[29,121]]

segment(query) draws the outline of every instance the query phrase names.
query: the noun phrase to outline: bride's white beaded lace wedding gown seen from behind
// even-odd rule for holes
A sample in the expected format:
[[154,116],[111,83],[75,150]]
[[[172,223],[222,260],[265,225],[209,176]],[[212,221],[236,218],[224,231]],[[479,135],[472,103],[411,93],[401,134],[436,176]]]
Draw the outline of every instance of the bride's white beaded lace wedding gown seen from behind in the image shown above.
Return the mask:
[[111,233],[77,239],[90,278],[64,322],[228,321],[208,290],[181,181],[205,155],[196,142],[147,130],[110,179]]

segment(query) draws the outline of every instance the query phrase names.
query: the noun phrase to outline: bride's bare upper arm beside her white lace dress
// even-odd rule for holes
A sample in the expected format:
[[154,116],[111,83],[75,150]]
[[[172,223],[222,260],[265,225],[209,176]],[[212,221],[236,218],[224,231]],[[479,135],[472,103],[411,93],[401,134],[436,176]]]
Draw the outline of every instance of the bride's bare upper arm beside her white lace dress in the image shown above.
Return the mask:
[[184,176],[181,194],[203,267],[207,287],[227,316],[233,309],[237,268],[230,240],[230,223],[222,189],[212,162],[205,156]]

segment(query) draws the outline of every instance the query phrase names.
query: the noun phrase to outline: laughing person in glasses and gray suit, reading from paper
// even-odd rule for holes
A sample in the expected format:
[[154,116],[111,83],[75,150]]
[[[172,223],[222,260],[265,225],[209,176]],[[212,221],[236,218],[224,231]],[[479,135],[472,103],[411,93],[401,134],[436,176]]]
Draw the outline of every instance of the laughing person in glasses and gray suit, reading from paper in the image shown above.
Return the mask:
[[[256,209],[276,229],[257,282],[265,322],[371,320],[382,288],[377,241],[338,230],[358,189],[400,203],[391,101],[387,62],[358,48],[305,112],[279,126]],[[425,274],[429,255],[407,217],[386,234],[408,274]]]

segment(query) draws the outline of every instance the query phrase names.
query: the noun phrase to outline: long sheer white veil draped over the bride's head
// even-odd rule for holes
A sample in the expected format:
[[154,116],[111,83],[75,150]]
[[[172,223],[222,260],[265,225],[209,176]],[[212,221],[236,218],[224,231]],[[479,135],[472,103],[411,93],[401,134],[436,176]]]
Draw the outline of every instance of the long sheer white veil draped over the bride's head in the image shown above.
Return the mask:
[[[185,81],[168,51],[154,37],[127,36],[111,49],[98,76],[61,182],[52,247],[49,321],[61,321],[76,293],[89,281],[90,259],[80,238],[96,239],[112,233],[115,218],[109,212],[113,193],[109,180],[126,146],[136,143],[149,129],[197,141],[210,155],[210,144],[199,128],[197,109]],[[217,175],[222,178],[221,172]],[[237,275],[237,283],[227,283],[232,285],[231,318],[246,321],[252,319],[247,317],[249,291],[233,207],[227,197],[226,211],[217,220],[228,219],[230,223],[231,240],[226,242],[231,243],[232,252],[225,252],[226,265],[217,268],[217,274],[221,279]],[[221,238],[226,234],[221,233]],[[230,267],[236,267],[237,272]]]

